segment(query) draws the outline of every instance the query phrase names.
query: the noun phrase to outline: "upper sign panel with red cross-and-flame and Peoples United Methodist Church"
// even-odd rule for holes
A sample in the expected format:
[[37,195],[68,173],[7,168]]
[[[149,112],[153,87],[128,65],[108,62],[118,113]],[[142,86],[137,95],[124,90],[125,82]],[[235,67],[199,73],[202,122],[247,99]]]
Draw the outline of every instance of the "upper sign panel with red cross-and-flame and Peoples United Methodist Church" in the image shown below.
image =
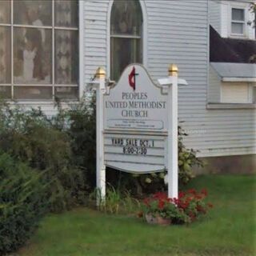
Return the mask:
[[167,130],[167,95],[141,65],[127,66],[104,96],[104,129]]

